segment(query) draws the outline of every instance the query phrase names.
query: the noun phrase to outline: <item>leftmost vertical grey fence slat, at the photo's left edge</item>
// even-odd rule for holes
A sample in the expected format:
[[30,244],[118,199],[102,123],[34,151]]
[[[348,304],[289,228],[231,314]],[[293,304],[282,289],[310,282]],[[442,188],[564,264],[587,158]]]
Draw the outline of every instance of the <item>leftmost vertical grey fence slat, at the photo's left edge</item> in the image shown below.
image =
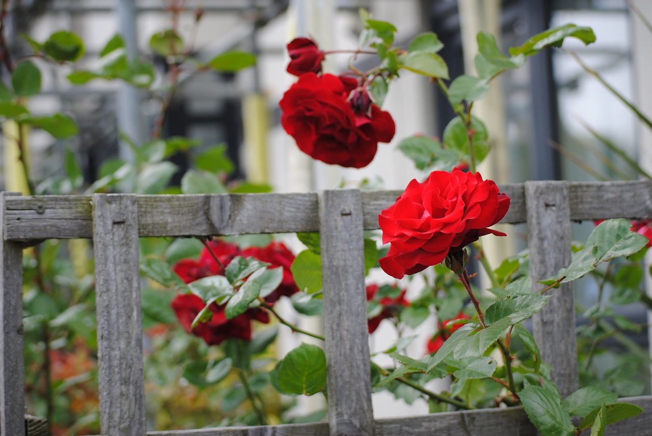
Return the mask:
[[[5,201],[13,193],[0,193],[0,223]],[[25,373],[23,363],[23,249],[5,240],[0,225],[0,435],[25,435]]]

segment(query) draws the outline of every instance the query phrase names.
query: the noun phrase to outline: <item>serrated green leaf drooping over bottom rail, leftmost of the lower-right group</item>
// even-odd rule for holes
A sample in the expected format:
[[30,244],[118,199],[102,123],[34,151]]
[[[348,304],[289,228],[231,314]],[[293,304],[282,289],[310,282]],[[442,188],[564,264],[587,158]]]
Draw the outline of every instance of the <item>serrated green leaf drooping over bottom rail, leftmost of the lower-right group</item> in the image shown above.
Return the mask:
[[561,407],[561,396],[552,383],[528,385],[518,396],[527,417],[544,436],[571,436],[575,426],[568,412]]

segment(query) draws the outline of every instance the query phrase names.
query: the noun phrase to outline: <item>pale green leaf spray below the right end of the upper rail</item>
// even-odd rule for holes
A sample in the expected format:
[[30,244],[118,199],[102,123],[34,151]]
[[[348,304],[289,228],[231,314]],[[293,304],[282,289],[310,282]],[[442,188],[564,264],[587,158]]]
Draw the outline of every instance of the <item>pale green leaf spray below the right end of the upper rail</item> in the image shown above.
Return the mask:
[[589,235],[584,248],[574,255],[571,265],[560,269],[556,276],[539,283],[550,285],[562,277],[564,279],[561,283],[571,282],[591,272],[602,262],[638,252],[648,240],[643,235],[630,231],[630,227],[631,223],[622,218],[601,222]]

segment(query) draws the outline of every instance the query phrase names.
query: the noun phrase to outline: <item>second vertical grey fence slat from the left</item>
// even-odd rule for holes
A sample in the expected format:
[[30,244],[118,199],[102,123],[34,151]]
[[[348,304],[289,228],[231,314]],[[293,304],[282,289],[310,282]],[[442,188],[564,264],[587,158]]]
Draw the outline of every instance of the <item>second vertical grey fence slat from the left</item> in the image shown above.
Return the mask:
[[102,436],[145,435],[138,207],[131,194],[93,195]]

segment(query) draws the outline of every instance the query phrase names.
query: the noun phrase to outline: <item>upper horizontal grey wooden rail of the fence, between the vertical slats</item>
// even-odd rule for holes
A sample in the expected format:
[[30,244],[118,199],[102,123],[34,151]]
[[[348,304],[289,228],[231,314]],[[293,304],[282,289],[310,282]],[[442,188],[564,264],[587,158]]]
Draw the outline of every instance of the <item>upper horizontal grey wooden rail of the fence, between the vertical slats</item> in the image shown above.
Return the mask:
[[[503,223],[525,222],[523,184],[501,186],[512,199]],[[364,229],[378,229],[378,214],[400,191],[363,191]],[[652,182],[569,183],[571,220],[651,218]],[[236,235],[318,231],[317,194],[138,196],[141,237]],[[623,214],[627,216],[623,216]],[[9,240],[93,237],[90,196],[7,199]]]

